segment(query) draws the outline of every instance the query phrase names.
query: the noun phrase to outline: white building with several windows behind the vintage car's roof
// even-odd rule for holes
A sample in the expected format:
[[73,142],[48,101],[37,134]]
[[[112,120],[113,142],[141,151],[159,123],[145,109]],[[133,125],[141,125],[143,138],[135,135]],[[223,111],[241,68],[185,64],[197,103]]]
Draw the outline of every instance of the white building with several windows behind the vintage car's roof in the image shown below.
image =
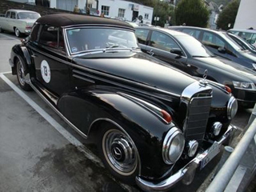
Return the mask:
[[143,6],[135,2],[125,0],[50,0],[50,7],[60,10],[74,10],[77,5],[79,9],[94,10],[98,15],[104,14],[108,18],[119,18],[122,20],[133,21],[142,18],[143,23],[151,24],[153,18],[153,7]]

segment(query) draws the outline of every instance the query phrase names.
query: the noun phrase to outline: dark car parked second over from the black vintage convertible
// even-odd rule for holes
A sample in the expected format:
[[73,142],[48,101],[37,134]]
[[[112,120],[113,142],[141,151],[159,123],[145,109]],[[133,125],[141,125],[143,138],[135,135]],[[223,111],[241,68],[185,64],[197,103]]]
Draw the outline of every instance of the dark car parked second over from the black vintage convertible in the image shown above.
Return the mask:
[[193,26],[170,26],[169,29],[190,34],[202,42],[214,54],[256,70],[255,54],[239,46],[226,32]]

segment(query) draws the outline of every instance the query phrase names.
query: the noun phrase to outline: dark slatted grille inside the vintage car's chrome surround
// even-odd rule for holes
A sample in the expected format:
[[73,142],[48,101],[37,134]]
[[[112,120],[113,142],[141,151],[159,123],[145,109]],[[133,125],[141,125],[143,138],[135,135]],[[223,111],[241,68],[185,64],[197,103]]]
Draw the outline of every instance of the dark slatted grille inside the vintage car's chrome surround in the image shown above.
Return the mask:
[[210,113],[211,97],[191,98],[184,128],[186,141],[202,142]]

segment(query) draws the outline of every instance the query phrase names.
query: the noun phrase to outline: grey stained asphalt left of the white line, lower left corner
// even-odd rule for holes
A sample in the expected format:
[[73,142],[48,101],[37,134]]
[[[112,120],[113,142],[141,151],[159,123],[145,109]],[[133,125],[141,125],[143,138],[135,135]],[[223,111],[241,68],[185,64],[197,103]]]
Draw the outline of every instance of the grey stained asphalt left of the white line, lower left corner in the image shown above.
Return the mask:
[[0,98],[0,191],[123,190],[2,80]]

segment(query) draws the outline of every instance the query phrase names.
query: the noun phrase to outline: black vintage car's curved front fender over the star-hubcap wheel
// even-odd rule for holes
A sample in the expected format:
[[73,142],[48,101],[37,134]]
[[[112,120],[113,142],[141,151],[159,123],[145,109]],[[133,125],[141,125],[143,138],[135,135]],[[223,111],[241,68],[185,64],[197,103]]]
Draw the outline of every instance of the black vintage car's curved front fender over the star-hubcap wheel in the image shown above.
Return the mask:
[[58,109],[87,136],[98,121],[109,120],[121,126],[138,149],[141,175],[161,178],[170,166],[162,160],[162,141],[173,123],[161,121],[150,110],[113,90],[78,90],[65,94]]

